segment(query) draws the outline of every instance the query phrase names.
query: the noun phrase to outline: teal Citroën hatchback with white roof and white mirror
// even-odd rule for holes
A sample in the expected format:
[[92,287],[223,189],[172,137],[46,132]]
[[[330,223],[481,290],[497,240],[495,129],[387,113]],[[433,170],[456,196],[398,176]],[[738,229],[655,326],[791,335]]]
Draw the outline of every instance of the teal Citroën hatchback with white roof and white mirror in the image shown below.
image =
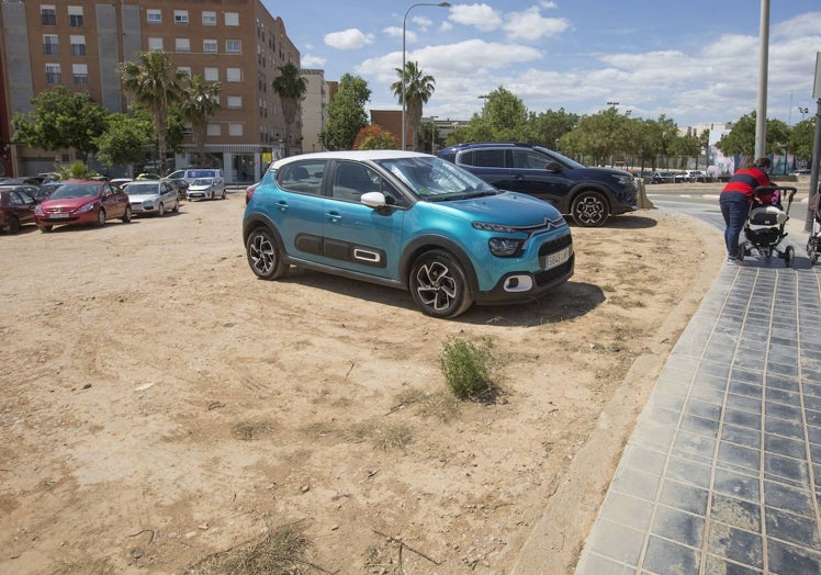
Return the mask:
[[308,268],[409,291],[441,318],[538,298],[573,275],[575,260],[549,203],[400,150],[275,161],[248,199],[243,240],[263,280]]

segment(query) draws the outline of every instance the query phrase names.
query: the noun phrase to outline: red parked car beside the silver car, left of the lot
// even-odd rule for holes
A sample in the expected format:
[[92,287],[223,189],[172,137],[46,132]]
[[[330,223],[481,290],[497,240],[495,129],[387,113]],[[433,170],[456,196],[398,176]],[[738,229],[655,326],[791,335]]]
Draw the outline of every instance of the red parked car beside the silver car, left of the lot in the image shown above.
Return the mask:
[[97,224],[120,218],[131,222],[128,195],[105,181],[72,180],[55,190],[34,208],[37,227],[50,232],[55,225]]

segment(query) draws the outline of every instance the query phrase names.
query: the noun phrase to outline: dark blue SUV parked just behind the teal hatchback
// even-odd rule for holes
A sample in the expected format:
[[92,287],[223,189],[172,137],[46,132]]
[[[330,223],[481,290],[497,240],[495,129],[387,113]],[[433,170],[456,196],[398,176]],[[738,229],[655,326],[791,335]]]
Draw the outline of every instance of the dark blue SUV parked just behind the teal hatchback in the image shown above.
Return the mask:
[[611,215],[638,207],[632,174],[587,168],[541,146],[498,142],[460,144],[442,148],[437,155],[501,190],[550,202],[580,226],[600,226]]

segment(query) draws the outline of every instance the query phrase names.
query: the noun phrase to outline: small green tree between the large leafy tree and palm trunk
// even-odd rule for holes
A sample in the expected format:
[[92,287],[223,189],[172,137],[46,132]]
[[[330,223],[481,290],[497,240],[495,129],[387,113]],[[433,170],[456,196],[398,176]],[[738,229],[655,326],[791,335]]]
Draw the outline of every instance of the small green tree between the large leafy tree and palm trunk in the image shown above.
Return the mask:
[[97,138],[97,159],[103,166],[137,164],[145,159],[145,151],[156,140],[150,117],[110,114],[108,127]]

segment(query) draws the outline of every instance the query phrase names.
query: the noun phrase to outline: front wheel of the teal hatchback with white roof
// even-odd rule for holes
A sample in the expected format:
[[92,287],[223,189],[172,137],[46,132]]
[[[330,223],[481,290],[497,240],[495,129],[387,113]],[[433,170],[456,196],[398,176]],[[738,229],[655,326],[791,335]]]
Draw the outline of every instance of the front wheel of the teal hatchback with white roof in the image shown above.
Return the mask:
[[473,305],[462,266],[443,250],[419,256],[410,268],[408,284],[416,305],[431,317],[457,317]]

